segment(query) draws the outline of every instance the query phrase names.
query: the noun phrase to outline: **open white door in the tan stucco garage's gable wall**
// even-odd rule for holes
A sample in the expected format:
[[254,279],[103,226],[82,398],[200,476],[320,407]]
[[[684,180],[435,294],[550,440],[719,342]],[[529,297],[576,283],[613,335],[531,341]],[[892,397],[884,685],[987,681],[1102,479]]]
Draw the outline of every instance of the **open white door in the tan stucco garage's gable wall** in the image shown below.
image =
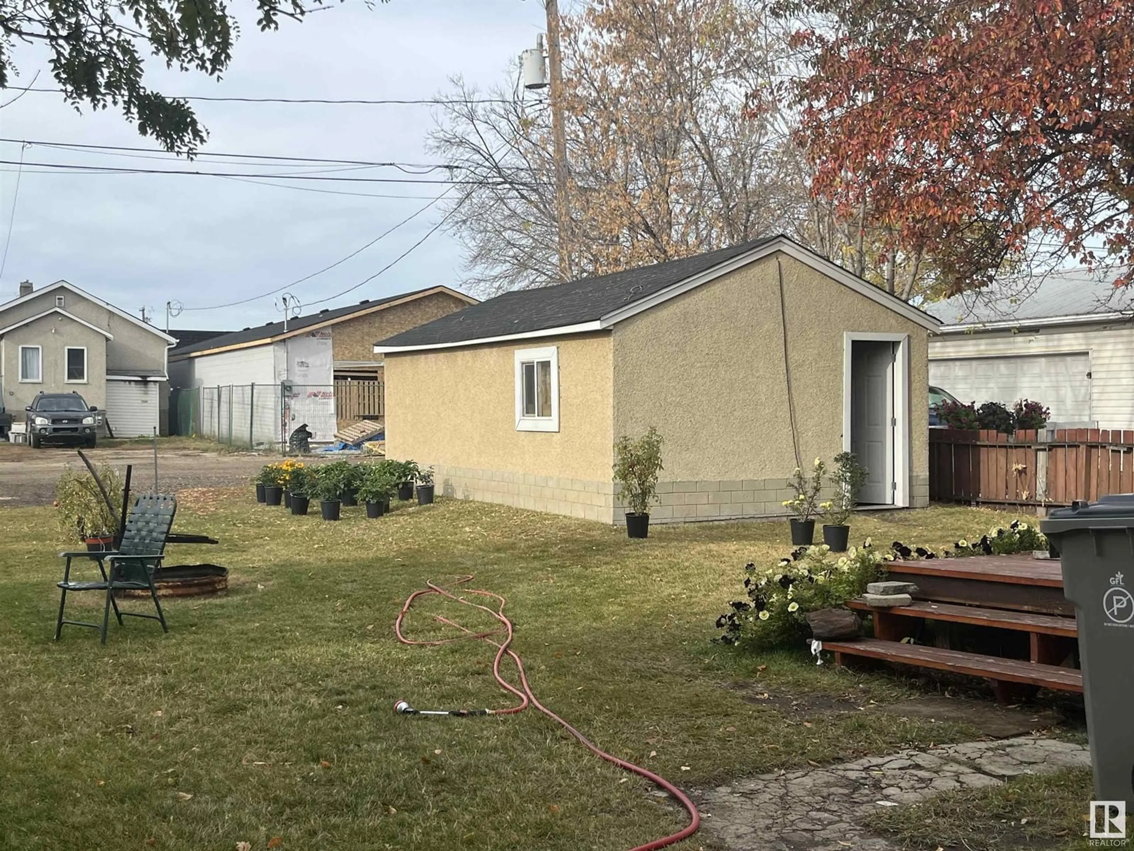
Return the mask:
[[895,502],[895,352],[891,340],[850,343],[850,452],[866,467],[864,505]]

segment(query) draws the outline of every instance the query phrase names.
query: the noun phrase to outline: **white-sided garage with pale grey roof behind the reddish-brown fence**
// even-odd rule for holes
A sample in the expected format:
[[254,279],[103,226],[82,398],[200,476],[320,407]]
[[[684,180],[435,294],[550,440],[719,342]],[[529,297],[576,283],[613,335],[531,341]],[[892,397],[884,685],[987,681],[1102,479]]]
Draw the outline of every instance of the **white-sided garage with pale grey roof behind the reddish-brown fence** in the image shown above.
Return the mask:
[[1001,283],[928,310],[929,382],[962,402],[1029,398],[1065,427],[1134,428],[1134,298],[1085,269]]

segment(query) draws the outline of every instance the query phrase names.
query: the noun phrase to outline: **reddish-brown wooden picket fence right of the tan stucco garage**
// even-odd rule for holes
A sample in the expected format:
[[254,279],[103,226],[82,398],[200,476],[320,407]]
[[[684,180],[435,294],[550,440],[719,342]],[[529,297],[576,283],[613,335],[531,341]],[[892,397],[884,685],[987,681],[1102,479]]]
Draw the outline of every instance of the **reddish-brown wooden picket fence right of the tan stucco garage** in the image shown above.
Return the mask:
[[1070,505],[1134,494],[1134,431],[930,429],[930,499]]

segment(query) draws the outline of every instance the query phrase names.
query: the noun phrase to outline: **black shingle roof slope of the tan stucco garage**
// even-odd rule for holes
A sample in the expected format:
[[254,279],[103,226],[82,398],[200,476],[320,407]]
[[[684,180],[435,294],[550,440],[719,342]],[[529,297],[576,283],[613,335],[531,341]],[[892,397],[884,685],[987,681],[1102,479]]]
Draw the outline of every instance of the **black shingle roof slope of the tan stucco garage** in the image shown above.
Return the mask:
[[375,345],[430,346],[591,322],[778,238],[780,237],[771,236],[753,239],[680,260],[668,260],[539,289],[505,293]]

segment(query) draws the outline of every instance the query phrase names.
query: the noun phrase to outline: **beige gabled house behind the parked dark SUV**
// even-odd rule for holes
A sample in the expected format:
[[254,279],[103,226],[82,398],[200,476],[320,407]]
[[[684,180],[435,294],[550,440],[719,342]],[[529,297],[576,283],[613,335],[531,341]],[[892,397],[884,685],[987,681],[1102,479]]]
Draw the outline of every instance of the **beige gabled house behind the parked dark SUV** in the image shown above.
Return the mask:
[[77,391],[105,412],[115,437],[161,429],[174,338],[59,280],[0,304],[0,393],[18,421],[43,393]]

